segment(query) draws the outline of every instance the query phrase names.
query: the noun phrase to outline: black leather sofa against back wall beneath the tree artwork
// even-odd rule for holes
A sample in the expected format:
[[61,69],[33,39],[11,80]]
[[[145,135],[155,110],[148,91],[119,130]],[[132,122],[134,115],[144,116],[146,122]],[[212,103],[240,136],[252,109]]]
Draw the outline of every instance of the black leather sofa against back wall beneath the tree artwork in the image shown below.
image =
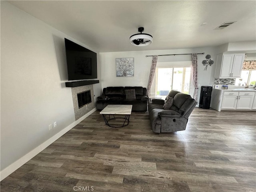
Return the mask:
[[[125,90],[135,90],[136,99],[126,99]],[[96,108],[104,109],[108,104],[132,105],[133,111],[147,111],[147,89],[143,87],[107,87],[103,88],[102,96],[98,97]]]

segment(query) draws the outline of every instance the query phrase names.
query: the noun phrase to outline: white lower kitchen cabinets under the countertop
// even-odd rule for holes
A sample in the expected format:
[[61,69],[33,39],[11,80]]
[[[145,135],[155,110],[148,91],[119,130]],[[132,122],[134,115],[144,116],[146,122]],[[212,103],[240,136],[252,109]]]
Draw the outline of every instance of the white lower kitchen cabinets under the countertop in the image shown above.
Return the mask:
[[255,92],[229,92],[225,91],[222,99],[222,109],[226,110],[252,110],[256,108]]

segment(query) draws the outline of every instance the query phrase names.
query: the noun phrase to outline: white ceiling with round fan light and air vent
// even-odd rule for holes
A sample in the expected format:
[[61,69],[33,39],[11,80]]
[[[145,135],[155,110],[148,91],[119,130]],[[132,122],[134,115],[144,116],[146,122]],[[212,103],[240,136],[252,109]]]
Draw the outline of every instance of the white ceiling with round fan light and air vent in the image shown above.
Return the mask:
[[[197,48],[256,40],[255,0],[8,2],[97,52]],[[236,22],[215,29],[230,21]],[[138,27],[153,36],[151,45],[130,44]]]

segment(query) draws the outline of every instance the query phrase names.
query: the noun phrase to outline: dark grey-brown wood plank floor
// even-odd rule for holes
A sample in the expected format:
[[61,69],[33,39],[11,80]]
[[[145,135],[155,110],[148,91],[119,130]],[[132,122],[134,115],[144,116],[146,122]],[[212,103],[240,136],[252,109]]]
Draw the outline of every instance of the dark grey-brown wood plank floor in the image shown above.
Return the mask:
[[1,192],[255,192],[255,169],[256,112],[195,108],[185,131],[155,134],[148,113],[110,128],[96,111]]

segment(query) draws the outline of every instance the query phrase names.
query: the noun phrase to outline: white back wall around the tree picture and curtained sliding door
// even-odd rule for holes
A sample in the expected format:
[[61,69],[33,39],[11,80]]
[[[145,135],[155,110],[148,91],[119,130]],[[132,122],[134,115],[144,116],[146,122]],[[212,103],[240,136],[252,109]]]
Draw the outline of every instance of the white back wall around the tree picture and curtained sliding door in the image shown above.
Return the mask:
[[[132,46],[132,45],[131,45]],[[212,85],[214,82],[214,74],[216,68],[216,49],[215,48],[193,48],[193,49],[177,49],[177,50],[150,50],[150,51],[130,51],[130,52],[108,52],[100,53],[101,63],[101,79],[102,88],[108,86],[143,86],[147,87],[148,77],[152,57],[146,55],[160,54],[186,54],[186,53],[202,53],[198,55],[198,84]],[[205,60],[206,54],[210,54],[214,60],[213,66],[208,66],[204,71],[202,60]],[[116,77],[116,58],[134,58],[134,77]],[[158,62],[177,62],[191,61],[191,55],[176,56],[158,56]],[[191,93],[194,92],[192,86]],[[200,93],[200,87],[199,87]]]

